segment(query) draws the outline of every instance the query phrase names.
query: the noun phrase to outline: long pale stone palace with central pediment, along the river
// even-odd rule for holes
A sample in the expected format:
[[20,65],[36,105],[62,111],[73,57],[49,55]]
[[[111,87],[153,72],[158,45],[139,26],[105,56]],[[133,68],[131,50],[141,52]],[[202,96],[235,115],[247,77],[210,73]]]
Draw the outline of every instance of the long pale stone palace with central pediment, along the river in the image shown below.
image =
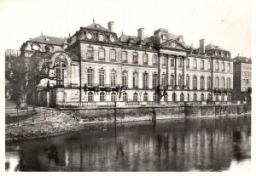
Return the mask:
[[56,78],[40,82],[38,105],[231,99],[230,51],[205,45],[204,39],[194,48],[163,28],[151,37],[143,28],[137,36],[118,37],[113,27],[113,21],[108,28],[93,21],[68,38],[42,34],[23,43],[21,55],[31,60],[38,51]]

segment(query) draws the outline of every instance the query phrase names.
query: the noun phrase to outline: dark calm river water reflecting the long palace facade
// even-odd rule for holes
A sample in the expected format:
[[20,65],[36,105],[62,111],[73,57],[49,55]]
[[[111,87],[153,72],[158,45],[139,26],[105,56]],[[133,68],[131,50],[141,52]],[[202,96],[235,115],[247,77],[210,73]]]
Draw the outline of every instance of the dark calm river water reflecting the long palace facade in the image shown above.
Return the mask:
[[250,150],[250,116],[113,123],[7,145],[6,171],[222,171]]

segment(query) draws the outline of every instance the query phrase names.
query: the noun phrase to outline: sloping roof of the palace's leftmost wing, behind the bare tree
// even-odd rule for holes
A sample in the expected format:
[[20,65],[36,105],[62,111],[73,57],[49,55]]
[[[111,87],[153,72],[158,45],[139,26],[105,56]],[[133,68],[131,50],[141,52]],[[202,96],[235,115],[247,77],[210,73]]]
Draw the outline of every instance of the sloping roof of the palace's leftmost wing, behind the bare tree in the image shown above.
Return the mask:
[[54,45],[61,45],[65,42],[65,38],[60,37],[50,37],[50,36],[44,36],[41,35],[39,37],[35,37],[33,39],[30,39],[28,41],[30,42],[36,42],[36,43],[46,43],[46,44],[54,44]]

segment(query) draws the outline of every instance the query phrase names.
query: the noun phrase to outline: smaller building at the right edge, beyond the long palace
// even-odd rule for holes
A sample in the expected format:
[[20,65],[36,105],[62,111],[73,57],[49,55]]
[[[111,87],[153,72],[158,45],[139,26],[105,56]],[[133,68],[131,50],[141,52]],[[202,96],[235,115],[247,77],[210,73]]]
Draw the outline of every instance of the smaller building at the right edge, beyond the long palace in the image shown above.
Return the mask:
[[236,56],[233,67],[234,99],[245,100],[247,89],[252,88],[252,60],[247,57]]

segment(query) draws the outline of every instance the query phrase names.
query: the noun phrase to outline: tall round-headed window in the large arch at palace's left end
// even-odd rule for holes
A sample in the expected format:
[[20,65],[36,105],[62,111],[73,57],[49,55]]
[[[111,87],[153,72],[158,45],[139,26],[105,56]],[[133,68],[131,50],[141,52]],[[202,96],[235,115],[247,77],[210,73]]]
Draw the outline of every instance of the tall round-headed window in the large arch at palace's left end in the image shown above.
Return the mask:
[[64,62],[58,62],[55,64],[56,85],[67,85],[67,65]]

